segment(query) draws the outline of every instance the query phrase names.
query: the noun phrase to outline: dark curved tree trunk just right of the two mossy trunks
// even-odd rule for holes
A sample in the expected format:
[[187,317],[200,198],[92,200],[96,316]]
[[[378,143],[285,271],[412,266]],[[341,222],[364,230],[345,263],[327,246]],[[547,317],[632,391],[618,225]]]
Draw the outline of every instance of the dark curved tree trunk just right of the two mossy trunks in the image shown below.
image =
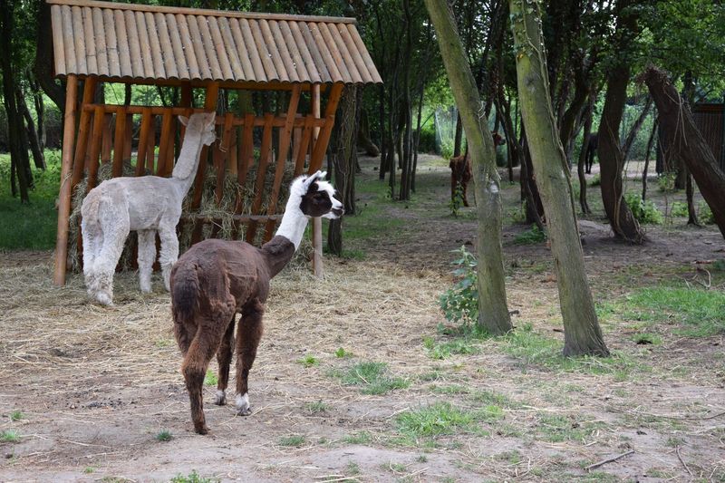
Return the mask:
[[641,244],[645,239],[644,232],[624,202],[622,186],[624,153],[619,142],[619,127],[629,77],[629,65],[626,63],[618,63],[608,75],[602,121],[599,124],[599,169],[604,212],[614,235],[627,242]]

